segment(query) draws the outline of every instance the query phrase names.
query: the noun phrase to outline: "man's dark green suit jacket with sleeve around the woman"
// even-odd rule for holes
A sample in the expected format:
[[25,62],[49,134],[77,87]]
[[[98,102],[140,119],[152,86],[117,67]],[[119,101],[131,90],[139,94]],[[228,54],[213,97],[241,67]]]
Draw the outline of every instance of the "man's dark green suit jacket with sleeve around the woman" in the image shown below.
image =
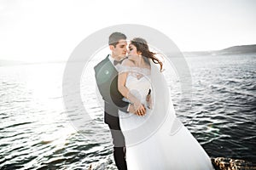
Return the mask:
[[108,59],[103,59],[94,67],[96,84],[104,100],[104,122],[107,124],[119,124],[118,111],[126,111],[128,103],[123,101],[124,98],[118,90],[118,71]]

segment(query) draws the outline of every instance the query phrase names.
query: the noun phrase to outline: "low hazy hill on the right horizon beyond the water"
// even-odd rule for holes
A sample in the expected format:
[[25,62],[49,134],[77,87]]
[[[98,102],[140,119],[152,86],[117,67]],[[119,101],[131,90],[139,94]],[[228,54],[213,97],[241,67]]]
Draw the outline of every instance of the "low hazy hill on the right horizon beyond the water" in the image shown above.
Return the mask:
[[198,56],[198,55],[223,55],[223,54],[253,54],[256,53],[256,44],[253,45],[241,45],[233,46],[230,48],[224,48],[221,50],[212,51],[193,51],[183,52],[185,56]]

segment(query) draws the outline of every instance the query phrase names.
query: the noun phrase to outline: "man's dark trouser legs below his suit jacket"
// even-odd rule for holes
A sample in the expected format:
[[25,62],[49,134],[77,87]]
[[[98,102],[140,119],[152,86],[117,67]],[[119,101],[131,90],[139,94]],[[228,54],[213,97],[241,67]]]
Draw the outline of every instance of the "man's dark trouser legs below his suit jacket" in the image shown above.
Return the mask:
[[126,160],[125,160],[125,137],[122,133],[119,124],[110,125],[110,132],[113,139],[113,158],[116,166],[119,170],[127,170]]

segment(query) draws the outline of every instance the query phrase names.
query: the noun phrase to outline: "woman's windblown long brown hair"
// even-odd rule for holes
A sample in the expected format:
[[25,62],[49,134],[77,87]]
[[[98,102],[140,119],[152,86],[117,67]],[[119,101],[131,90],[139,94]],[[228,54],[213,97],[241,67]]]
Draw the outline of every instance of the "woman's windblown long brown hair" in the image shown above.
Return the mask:
[[137,52],[141,52],[143,57],[147,58],[147,59],[145,59],[145,61],[148,63],[148,65],[150,65],[148,59],[152,59],[152,61],[155,64],[160,65],[160,71],[162,71],[163,63],[154,56],[155,53],[149,51],[148,42],[146,42],[146,40],[144,40],[141,37],[135,37],[131,40],[131,44],[137,48]]

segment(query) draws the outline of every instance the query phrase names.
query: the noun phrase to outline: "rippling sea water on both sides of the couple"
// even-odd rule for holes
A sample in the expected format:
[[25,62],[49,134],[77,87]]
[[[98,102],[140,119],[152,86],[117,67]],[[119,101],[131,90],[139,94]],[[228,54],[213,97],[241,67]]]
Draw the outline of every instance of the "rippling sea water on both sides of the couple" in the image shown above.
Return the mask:
[[[255,55],[188,58],[193,98],[183,103],[180,81],[167,77],[177,116],[211,157],[256,160],[255,59]],[[85,122],[73,99],[69,102],[74,107],[63,109],[64,67],[0,67],[1,169],[84,169],[98,160],[113,166],[111,136],[102,122],[95,84],[81,85],[86,109],[94,119]],[[88,74],[93,80],[92,71]]]

